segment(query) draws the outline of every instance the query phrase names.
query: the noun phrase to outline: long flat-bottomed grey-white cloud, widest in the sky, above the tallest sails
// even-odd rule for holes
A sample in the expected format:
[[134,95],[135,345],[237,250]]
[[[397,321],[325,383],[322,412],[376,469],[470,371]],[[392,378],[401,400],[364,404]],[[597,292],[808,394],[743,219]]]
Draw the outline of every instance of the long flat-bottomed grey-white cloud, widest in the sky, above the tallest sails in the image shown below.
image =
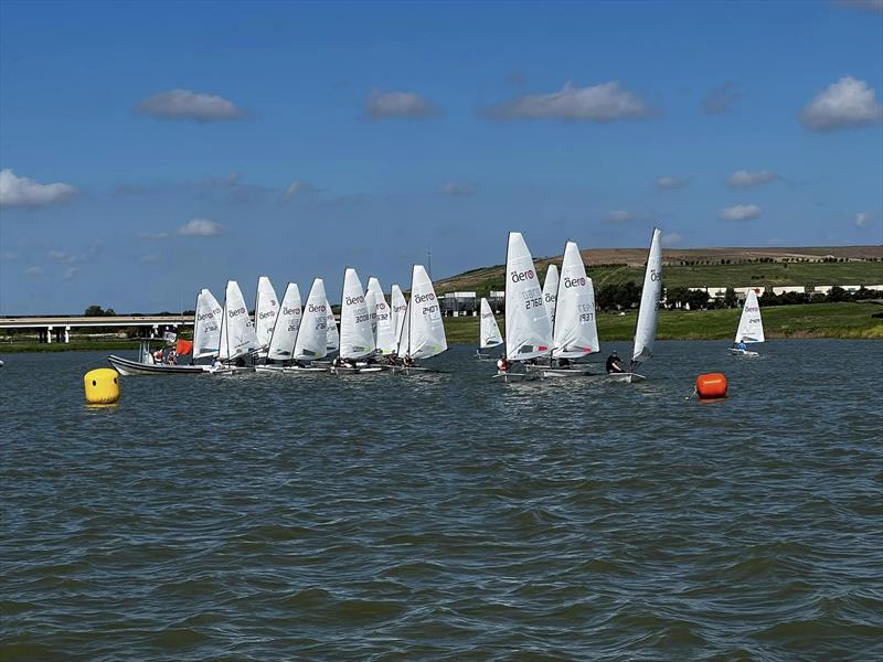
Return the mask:
[[623,89],[617,81],[593,87],[575,87],[570,82],[560,92],[517,97],[483,111],[490,119],[560,119],[598,122],[637,119],[652,115],[652,109],[635,93]]

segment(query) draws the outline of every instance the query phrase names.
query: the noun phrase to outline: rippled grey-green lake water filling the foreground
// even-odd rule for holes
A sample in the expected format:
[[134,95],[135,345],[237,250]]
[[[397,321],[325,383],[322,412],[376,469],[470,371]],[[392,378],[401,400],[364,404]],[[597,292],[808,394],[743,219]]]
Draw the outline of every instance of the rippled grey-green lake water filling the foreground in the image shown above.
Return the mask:
[[883,658],[883,343],[662,342],[632,386],[472,351],[98,409],[103,354],[4,356],[0,659]]

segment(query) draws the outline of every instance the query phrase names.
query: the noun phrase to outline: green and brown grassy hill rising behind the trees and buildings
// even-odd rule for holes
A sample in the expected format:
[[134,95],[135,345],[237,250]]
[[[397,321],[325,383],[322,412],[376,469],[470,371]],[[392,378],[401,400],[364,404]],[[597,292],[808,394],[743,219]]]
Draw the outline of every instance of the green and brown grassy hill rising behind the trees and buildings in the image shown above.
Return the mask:
[[[583,252],[596,289],[629,280],[640,285],[646,257],[646,248]],[[844,261],[821,261],[826,258]],[[883,260],[882,246],[666,249],[662,274],[669,288],[883,284],[883,261],[872,260]],[[550,264],[561,267],[561,256],[538,258],[535,263],[541,278],[545,278]],[[503,289],[503,265],[472,269],[438,280],[436,290],[487,296],[489,290]]]

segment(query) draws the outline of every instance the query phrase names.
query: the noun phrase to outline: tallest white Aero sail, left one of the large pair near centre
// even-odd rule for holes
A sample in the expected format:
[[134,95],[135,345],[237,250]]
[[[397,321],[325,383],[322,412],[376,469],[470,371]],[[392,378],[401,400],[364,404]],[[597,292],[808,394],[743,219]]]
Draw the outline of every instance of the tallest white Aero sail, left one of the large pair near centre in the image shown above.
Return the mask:
[[506,356],[526,361],[551,350],[552,324],[531,252],[520,232],[510,232],[506,255]]

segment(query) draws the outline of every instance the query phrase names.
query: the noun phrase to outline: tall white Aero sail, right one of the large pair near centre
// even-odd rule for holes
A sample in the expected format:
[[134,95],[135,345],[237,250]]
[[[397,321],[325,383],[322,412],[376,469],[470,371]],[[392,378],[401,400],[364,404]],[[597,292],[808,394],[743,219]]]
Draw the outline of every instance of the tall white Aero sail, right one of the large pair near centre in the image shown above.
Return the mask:
[[583,256],[574,242],[567,242],[564,247],[556,307],[552,355],[578,359],[597,352],[600,346],[595,321],[595,288],[586,276]]

